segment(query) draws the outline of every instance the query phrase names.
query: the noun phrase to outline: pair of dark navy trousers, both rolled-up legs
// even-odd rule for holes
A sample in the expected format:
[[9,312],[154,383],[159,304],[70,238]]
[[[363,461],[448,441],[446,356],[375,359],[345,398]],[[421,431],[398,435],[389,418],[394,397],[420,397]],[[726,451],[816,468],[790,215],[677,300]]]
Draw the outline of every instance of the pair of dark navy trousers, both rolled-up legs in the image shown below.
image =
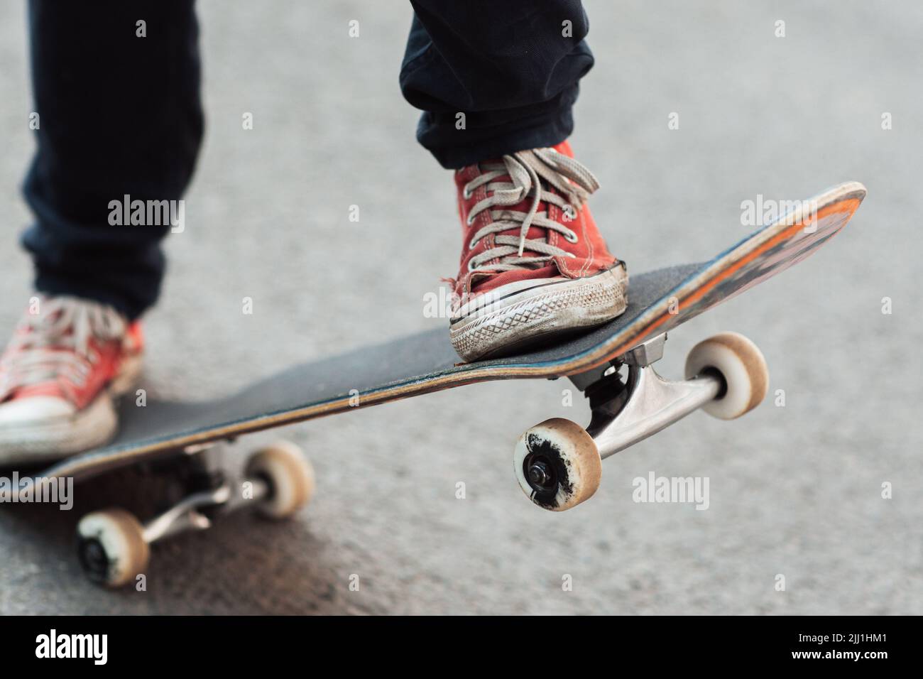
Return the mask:
[[[417,139],[440,164],[569,136],[577,81],[593,66],[579,0],[412,4],[401,88],[423,109]],[[22,241],[36,288],[137,318],[160,293],[170,226],[113,225],[110,203],[178,200],[193,174],[203,128],[194,0],[30,0],[29,9],[40,126],[25,182],[35,224]]]

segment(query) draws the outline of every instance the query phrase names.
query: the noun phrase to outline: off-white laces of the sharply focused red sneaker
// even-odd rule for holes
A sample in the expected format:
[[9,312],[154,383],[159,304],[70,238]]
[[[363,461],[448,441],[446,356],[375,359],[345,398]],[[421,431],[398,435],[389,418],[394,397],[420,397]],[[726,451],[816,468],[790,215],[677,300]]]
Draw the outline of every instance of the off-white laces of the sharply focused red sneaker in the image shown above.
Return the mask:
[[[473,224],[478,214],[490,210],[490,224],[485,224],[468,244],[473,249],[481,238],[508,231],[519,227],[519,236],[496,236],[494,247],[474,256],[468,262],[468,270],[490,269],[491,271],[516,271],[519,269],[535,269],[546,261],[555,257],[575,257],[565,249],[557,248],[548,243],[547,237],[526,238],[531,226],[539,226],[546,230],[557,231],[569,242],[577,242],[577,234],[566,225],[549,219],[547,211],[538,212],[538,205],[545,201],[557,205],[571,217],[576,215],[593,191],[599,188],[596,177],[582,164],[573,158],[558,153],[554,149],[533,149],[521,151],[512,155],[505,155],[503,163],[482,164],[485,173],[475,177],[464,186],[465,198],[471,197],[474,190],[484,184],[487,191],[492,192],[484,200],[479,200],[468,214],[468,224]],[[499,176],[509,175],[512,182],[494,181]],[[546,191],[542,181],[557,188],[562,196]],[[532,205],[529,212],[515,210],[494,210],[515,205],[524,198],[532,196]],[[533,257],[523,257],[525,250],[538,253]],[[485,264],[492,260],[499,263]]]

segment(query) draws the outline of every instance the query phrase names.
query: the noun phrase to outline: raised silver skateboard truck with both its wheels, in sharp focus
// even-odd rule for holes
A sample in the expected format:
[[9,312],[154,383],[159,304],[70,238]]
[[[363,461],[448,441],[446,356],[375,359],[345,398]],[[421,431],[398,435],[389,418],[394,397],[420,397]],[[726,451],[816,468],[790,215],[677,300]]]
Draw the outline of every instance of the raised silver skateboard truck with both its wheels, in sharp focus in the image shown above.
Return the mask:
[[514,468],[533,503],[555,511],[569,509],[599,487],[605,457],[699,408],[733,419],[765,396],[765,359],[743,335],[721,333],[694,346],[686,359],[687,379],[676,382],[653,369],[664,356],[665,342],[666,333],[657,335],[607,366],[570,377],[590,400],[592,415],[585,430],[569,419],[552,418],[522,434]]

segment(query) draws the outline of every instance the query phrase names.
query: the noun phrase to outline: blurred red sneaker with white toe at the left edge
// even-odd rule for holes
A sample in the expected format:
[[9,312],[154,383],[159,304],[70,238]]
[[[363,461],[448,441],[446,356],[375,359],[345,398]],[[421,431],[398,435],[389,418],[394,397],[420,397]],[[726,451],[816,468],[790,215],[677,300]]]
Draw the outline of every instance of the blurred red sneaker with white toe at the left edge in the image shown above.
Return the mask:
[[114,396],[141,363],[138,323],[76,297],[39,297],[0,357],[0,465],[40,463],[106,443]]

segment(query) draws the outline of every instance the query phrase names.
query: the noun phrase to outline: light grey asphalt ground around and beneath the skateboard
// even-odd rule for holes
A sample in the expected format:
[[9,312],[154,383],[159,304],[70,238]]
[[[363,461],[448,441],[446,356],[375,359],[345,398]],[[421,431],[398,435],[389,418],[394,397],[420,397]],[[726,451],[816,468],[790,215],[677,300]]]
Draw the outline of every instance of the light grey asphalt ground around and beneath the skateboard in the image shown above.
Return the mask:
[[[694,414],[608,460],[593,501],[561,515],[525,500],[510,452],[535,422],[586,418],[582,403],[562,406],[564,382],[476,385],[294,426],[284,433],[314,461],[316,502],[287,525],[238,515],[163,544],[146,592],[94,588],[72,558],[79,510],[130,498],[130,484],[94,484],[70,513],[3,508],[0,612],[923,612],[923,6],[587,9],[597,64],[573,142],[604,187],[591,203],[597,220],[633,271],[724,249],[747,232],[740,202],[757,194],[807,198],[847,179],[869,188],[816,257],[668,343],[662,372],[677,375],[708,333],[749,334],[785,406],[770,398],[731,423]],[[147,322],[152,390],[223,394],[295,361],[444,322],[424,318],[422,298],[454,274],[459,226],[450,173],[415,144],[416,113],[397,87],[408,4],[210,0],[200,14],[208,135],[186,232],[167,243],[170,276]],[[351,18],[358,39],[347,37]],[[9,0],[5,328],[30,293],[15,243],[30,218],[18,195],[32,148],[25,55],[24,6]],[[252,131],[241,129],[245,111]],[[352,204],[358,224],[347,219]],[[255,300],[252,316],[242,297]],[[882,313],[883,297],[893,313]],[[650,471],[708,477],[709,509],[632,502],[631,480]],[[885,482],[892,499],[881,497]]]

